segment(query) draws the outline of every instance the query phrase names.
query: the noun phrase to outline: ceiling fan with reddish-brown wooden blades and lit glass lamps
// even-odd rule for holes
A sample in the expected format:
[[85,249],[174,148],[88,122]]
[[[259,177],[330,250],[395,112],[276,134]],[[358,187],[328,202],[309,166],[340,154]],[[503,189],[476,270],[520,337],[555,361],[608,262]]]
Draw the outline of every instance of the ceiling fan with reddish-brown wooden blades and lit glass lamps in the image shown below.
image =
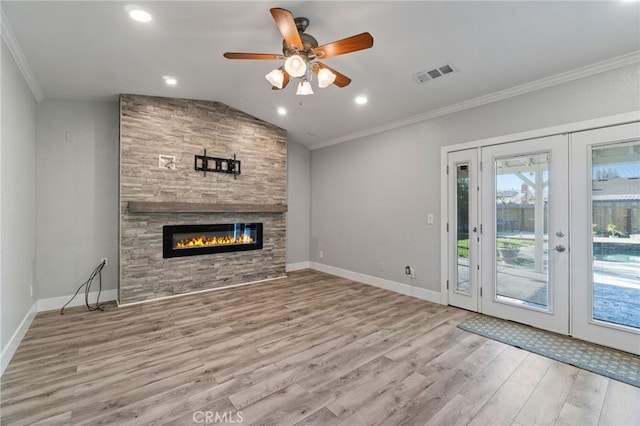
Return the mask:
[[311,95],[313,94],[309,83],[311,72],[318,75],[320,88],[331,84],[345,87],[351,83],[351,79],[319,62],[318,59],[332,58],[369,49],[373,46],[373,37],[369,33],[354,35],[319,46],[318,41],[312,35],[305,33],[309,26],[307,18],[294,18],[291,12],[279,7],[274,7],[270,11],[284,37],[282,54],[226,52],[224,57],[227,59],[285,59],[283,66],[274,69],[265,76],[267,81],[272,84],[272,89],[283,89],[289,84],[291,77],[296,77],[300,79],[296,94]]

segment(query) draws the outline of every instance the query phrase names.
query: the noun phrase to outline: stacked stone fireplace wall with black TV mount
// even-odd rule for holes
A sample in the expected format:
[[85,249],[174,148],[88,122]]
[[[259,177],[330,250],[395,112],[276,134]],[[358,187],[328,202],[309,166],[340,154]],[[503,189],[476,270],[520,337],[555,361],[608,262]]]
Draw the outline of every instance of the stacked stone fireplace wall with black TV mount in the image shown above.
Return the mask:
[[[194,156],[205,149],[210,157],[235,154],[242,167],[237,179],[194,170]],[[283,129],[224,104],[122,95],[120,303],[284,276],[286,151]],[[175,157],[175,169],[159,167],[159,155]],[[130,211],[131,202],[231,208],[215,213]],[[233,208],[243,205],[251,205],[251,211]],[[262,205],[264,211],[256,209]],[[273,212],[274,206],[279,212]],[[238,222],[263,223],[262,250],[162,257],[164,225]]]

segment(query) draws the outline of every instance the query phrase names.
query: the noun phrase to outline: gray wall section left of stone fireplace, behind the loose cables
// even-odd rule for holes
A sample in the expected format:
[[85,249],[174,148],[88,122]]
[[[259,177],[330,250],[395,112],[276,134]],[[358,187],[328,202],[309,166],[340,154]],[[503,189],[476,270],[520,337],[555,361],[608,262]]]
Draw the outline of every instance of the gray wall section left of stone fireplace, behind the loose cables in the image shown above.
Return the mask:
[[103,257],[102,289],[117,288],[118,114],[116,102],[38,104],[38,299],[72,295]]

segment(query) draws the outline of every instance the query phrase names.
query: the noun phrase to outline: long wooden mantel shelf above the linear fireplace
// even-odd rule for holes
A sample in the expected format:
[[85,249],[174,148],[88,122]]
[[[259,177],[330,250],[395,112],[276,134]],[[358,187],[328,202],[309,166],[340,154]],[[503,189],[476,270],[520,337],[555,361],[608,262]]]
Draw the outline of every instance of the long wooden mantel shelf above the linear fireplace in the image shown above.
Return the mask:
[[284,213],[286,204],[179,203],[129,201],[129,213]]

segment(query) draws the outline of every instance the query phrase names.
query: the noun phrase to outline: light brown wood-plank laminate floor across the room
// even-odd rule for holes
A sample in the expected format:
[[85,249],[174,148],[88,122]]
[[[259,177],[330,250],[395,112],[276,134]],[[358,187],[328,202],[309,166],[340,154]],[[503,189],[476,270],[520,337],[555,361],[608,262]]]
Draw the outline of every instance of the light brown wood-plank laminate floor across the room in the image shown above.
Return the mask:
[[41,313],[2,376],[1,421],[640,424],[640,389],[458,329],[469,315],[315,271]]

